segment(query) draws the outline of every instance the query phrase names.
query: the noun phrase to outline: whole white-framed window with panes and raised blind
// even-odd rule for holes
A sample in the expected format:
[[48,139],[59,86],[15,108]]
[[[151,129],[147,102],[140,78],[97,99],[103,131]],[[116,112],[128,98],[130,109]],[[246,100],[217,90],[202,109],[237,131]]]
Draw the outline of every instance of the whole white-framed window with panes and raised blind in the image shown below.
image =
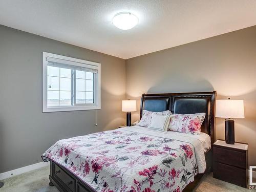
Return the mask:
[[100,63],[42,53],[42,112],[100,109]]

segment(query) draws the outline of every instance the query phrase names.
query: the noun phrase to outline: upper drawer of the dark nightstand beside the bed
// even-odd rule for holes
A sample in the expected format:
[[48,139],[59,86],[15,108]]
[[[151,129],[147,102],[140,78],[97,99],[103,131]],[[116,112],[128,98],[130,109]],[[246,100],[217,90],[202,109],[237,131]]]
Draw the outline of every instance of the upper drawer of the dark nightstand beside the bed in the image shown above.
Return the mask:
[[246,153],[214,146],[214,161],[246,169]]

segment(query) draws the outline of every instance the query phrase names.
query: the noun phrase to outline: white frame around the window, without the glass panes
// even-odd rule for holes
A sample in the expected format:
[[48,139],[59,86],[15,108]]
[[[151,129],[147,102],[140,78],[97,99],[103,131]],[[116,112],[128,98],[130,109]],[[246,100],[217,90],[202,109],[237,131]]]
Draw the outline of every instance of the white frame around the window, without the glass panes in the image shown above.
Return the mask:
[[[72,106],[47,106],[47,57],[63,59],[78,67],[97,68],[96,78],[94,79],[94,103],[92,104],[76,104]],[[80,111],[80,110],[99,110],[100,106],[100,63],[82,59],[76,59],[63,55],[42,52],[42,112],[61,112],[61,111]]]

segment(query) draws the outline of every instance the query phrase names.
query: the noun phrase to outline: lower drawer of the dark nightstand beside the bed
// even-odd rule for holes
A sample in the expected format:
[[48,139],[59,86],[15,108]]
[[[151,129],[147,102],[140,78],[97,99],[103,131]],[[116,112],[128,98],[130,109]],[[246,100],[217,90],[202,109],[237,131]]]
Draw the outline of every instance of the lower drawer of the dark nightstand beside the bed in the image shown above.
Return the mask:
[[247,169],[214,162],[214,178],[247,187]]

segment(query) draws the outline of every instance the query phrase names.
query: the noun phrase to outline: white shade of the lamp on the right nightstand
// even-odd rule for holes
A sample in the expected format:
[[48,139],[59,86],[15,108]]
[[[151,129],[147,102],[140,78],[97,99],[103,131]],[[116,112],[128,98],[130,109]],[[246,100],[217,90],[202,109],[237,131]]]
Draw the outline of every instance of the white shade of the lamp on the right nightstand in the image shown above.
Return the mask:
[[244,100],[217,100],[216,117],[230,119],[244,118]]

